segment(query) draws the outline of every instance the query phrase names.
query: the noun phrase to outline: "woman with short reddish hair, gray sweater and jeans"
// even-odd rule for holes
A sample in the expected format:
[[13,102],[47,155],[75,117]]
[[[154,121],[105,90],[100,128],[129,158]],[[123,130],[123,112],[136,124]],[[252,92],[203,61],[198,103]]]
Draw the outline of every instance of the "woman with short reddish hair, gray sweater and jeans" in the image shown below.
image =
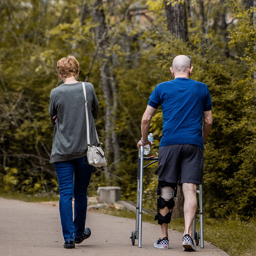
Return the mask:
[[[93,166],[87,161],[87,127],[82,82],[77,81],[79,63],[72,55],[57,62],[57,72],[63,83],[51,91],[49,113],[55,126],[51,163],[59,183],[59,212],[64,248],[74,248],[91,236],[84,228],[87,214],[87,188]],[[89,111],[90,141],[96,145],[94,119],[98,100],[91,83],[86,83]],[[74,220],[72,198],[74,204]]]

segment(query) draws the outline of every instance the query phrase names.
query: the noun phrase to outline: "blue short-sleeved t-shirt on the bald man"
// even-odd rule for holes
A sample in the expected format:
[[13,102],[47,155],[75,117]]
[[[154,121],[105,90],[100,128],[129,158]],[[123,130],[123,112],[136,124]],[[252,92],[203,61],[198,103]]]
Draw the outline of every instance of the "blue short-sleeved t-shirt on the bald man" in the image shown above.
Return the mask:
[[204,149],[203,112],[211,110],[210,93],[205,83],[188,78],[159,83],[148,105],[155,109],[162,106],[163,136],[159,146],[195,144]]

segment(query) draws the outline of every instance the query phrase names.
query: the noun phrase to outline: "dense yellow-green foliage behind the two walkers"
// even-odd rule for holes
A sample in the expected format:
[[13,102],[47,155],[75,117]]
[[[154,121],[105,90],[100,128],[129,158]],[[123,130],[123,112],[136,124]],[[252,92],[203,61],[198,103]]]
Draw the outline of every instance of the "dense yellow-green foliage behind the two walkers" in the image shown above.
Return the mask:
[[[103,55],[95,36],[98,24],[92,19],[96,1],[1,2],[0,185],[5,191],[54,193],[58,189],[49,164],[53,127],[48,104],[50,91],[60,84],[56,62],[72,53],[80,62],[80,80],[89,77],[95,86],[100,102],[96,125],[102,140],[109,118],[100,79],[103,65],[109,67],[116,86],[110,101],[118,106],[112,132],[118,137],[120,160],[116,164],[109,154],[110,174],[96,169],[91,191],[96,192],[99,185],[120,185],[123,197],[135,200],[136,143],[141,137],[142,114],[156,84],[173,79],[169,72],[173,58],[185,54],[193,56],[191,78],[205,82],[212,97],[214,126],[205,144],[205,209],[218,217],[255,215],[253,8],[245,10],[241,1],[203,1],[207,20],[202,24],[200,1],[185,2],[188,42],[167,31],[161,0],[108,1],[98,6],[108,28],[104,59],[97,58]],[[151,127],[154,154],[161,122],[158,110]],[[145,202],[151,207],[155,204],[156,166],[145,172],[144,184]]]

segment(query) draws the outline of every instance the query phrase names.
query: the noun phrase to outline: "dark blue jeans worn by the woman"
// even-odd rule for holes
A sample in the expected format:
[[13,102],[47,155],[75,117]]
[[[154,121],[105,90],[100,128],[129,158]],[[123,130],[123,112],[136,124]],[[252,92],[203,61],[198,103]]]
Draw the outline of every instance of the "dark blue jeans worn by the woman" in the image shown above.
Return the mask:
[[[86,225],[87,188],[93,173],[93,166],[87,157],[55,162],[54,167],[59,182],[59,212],[62,233],[65,241],[83,234]],[[74,196],[74,221],[72,198]]]

